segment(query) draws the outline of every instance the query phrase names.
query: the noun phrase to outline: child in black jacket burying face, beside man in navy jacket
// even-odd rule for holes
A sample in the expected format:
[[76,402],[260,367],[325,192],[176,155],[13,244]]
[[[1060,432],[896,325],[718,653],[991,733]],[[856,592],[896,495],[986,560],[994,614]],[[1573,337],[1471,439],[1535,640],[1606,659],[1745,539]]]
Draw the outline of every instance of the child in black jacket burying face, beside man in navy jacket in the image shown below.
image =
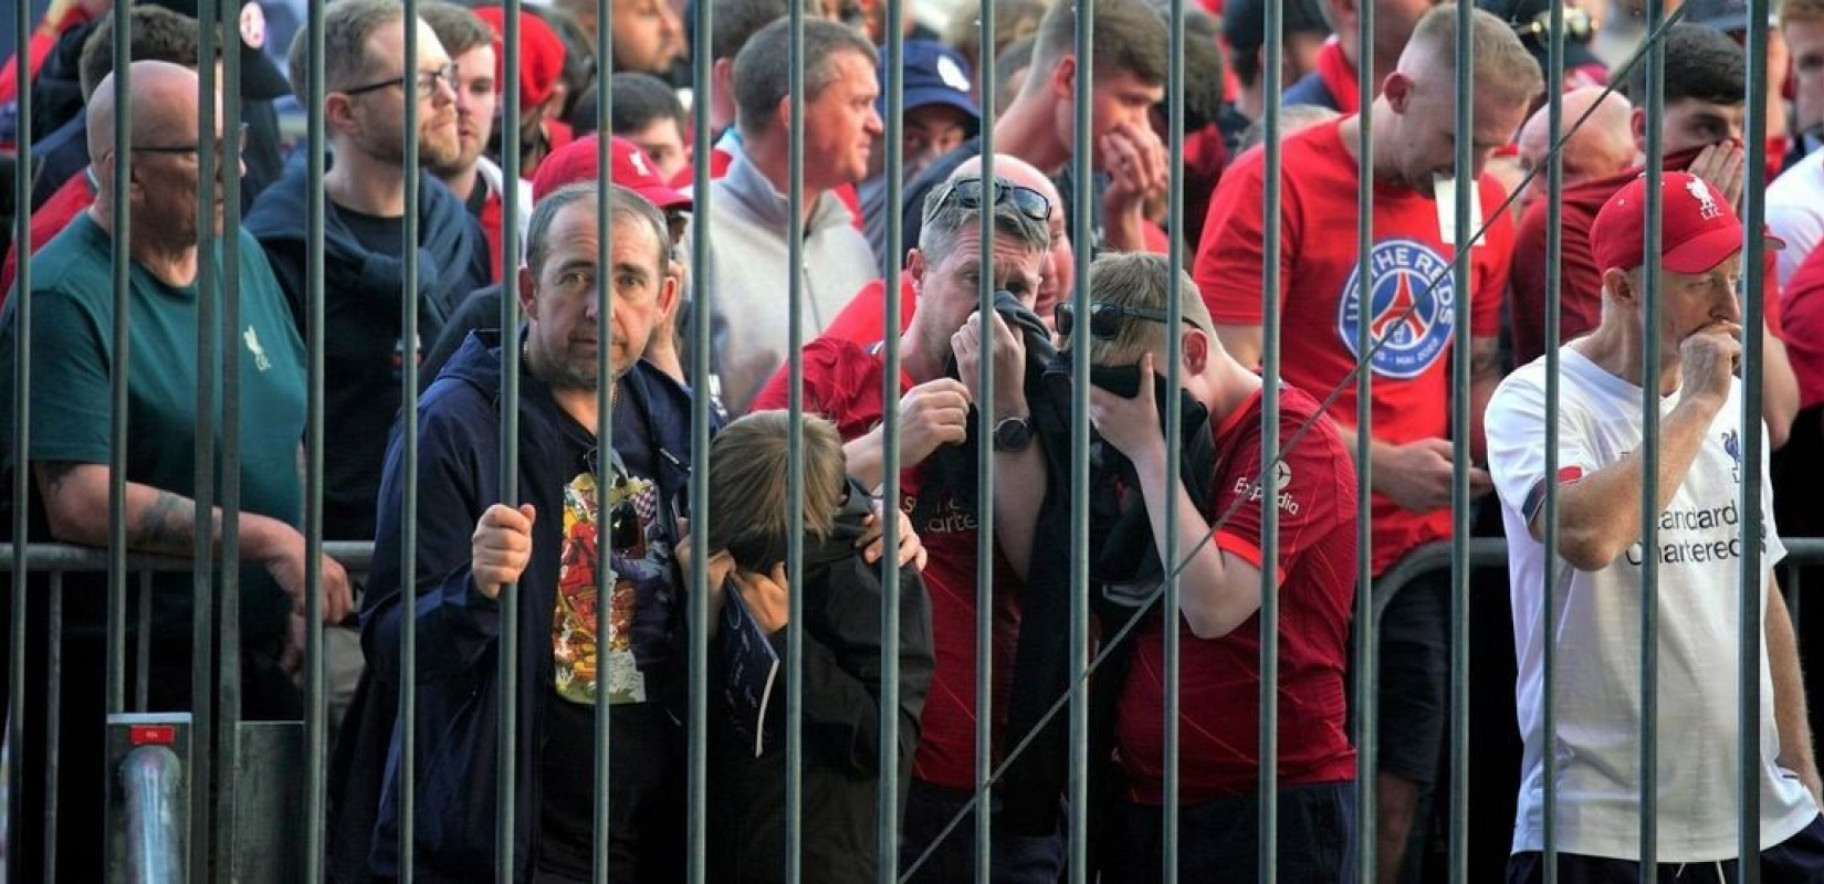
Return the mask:
[[[843,441],[804,417],[804,525],[788,521],[786,412],[755,412],[710,450],[711,645],[710,871],[713,880],[782,880],[786,614],[803,594],[803,871],[806,880],[872,880],[881,776],[910,778],[919,711],[934,667],[930,603],[917,569],[896,598],[857,540],[877,532],[872,499],[845,476]],[[786,545],[804,532],[803,583],[790,587]],[[892,773],[881,745],[881,605],[899,605],[899,738]]]

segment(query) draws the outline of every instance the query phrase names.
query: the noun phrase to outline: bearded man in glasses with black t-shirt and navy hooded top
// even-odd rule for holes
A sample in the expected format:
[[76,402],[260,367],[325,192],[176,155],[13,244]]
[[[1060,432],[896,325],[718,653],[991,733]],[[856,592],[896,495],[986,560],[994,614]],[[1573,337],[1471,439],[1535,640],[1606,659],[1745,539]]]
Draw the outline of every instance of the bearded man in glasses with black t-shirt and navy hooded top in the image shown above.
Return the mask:
[[[405,27],[418,27],[418,67],[405,69]],[[399,410],[405,339],[405,102],[418,102],[418,160],[454,162],[456,67],[423,22],[407,22],[390,0],[341,0],[323,15],[323,117],[330,159],[323,179],[325,255],[321,330],[305,328],[306,200],[316,186],[297,151],[246,219],[266,248],[301,334],[325,341],[328,450],[323,525],[330,540],[372,540],[374,494],[387,427]],[[292,44],[292,84],[308,77],[308,35]],[[418,170],[410,170],[416,173]],[[489,283],[487,239],[451,191],[420,177],[420,343],[436,341],[463,295]],[[421,379],[429,383],[429,377]]]

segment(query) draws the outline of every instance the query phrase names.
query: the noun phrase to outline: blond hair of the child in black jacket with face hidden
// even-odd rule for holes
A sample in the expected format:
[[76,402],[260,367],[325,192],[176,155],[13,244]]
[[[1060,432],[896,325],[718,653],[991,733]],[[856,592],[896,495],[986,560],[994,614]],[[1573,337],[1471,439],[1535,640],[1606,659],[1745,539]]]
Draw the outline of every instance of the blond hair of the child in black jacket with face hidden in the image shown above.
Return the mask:
[[[710,445],[710,549],[786,543],[792,530],[786,523],[790,432],[790,412],[753,412],[715,434]],[[806,414],[804,530],[815,538],[828,538],[835,527],[846,470],[835,425]]]

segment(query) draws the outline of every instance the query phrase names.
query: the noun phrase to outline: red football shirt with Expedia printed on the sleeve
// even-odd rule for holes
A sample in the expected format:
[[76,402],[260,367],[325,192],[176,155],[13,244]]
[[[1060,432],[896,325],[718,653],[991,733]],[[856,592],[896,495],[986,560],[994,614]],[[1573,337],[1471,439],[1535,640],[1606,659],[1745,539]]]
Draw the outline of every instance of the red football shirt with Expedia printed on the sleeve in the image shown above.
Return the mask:
[[[1204,518],[1218,519],[1222,550],[1260,567],[1260,394],[1215,428],[1217,476]],[[1280,434],[1319,412],[1284,386]],[[1279,782],[1355,778],[1342,676],[1355,600],[1355,470],[1330,421],[1319,421],[1277,468],[1279,488]],[[1191,634],[1182,616],[1178,787],[1182,804],[1253,795],[1260,776],[1260,614],[1217,640]],[[1116,718],[1116,747],[1131,802],[1164,802],[1164,623],[1155,612],[1135,634],[1133,667]]]

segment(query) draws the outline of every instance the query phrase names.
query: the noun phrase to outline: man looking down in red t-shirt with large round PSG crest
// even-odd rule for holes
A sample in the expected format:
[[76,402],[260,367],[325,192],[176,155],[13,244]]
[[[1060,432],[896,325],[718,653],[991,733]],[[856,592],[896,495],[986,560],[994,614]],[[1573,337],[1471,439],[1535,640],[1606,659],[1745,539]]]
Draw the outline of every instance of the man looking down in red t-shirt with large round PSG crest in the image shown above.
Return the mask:
[[[1468,292],[1452,277],[1456,248],[1483,228],[1476,219],[1457,237],[1452,200],[1437,199],[1434,180],[1454,166],[1456,5],[1437,7],[1419,22],[1399,67],[1388,75],[1372,113],[1373,124],[1373,253],[1370,304],[1355,279],[1355,191],[1361,118],[1313,126],[1284,140],[1280,219],[1280,315],[1284,379],[1311,396],[1341,394],[1330,416],[1355,448],[1357,326],[1370,323],[1377,341],[1373,368],[1373,572],[1384,574],[1423,543],[1450,536],[1452,445],[1450,348],[1461,344],[1452,304],[1470,299],[1472,416],[1501,375],[1498,334],[1501,288],[1507,283],[1512,222],[1488,219],[1470,252]],[[1481,206],[1503,199],[1481,170],[1496,148],[1512,140],[1541,91],[1539,66],[1499,18],[1476,11],[1474,166]],[[1262,191],[1259,151],[1222,175],[1209,204],[1195,277],[1217,323],[1222,344],[1242,365],[1260,357]],[[1472,428],[1472,450],[1481,437]],[[1474,496],[1490,490],[1488,474],[1470,470]],[[1379,667],[1379,860],[1381,880],[1394,880],[1403,857],[1419,853],[1425,826],[1415,818],[1435,782],[1445,727],[1448,676],[1448,574],[1432,572],[1394,596],[1381,620]],[[1408,835],[1412,846],[1408,848]]]

